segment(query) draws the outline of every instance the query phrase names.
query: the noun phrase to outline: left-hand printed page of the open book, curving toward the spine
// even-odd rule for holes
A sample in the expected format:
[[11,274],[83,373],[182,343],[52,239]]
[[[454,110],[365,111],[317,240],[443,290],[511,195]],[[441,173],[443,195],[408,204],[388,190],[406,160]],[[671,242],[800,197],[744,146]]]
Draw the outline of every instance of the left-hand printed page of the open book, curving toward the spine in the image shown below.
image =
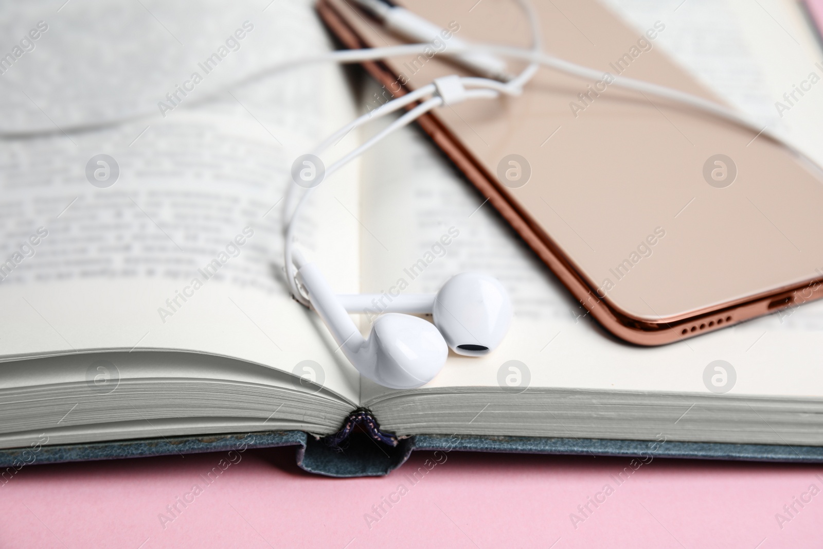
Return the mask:
[[[0,358],[175,349],[290,373],[312,360],[357,402],[356,371],[282,272],[291,164],[355,115],[342,71],[221,91],[328,51],[311,2],[2,9],[11,36],[49,19],[2,76],[2,131],[52,132],[0,142]],[[62,129],[146,106],[126,123]],[[353,163],[323,182],[298,231],[339,291],[359,290],[358,178]]]

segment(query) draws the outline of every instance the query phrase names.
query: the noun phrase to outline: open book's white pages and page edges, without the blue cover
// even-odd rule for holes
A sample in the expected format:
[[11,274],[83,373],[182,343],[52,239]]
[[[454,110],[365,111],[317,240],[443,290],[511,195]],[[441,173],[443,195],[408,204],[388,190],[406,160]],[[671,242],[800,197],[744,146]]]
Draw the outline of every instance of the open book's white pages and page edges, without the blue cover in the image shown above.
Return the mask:
[[5,35],[49,28],[0,79],[0,448],[329,435],[360,407],[399,436],[823,446],[823,302],[666,347],[616,341],[413,127],[322,184],[301,248],[340,293],[491,273],[514,323],[422,388],[360,378],[286,291],[281,199],[291,161],[383,91],[366,82],[363,100],[347,80],[363,75],[328,65],[226,88],[332,47],[309,2],[92,9],[3,8]]

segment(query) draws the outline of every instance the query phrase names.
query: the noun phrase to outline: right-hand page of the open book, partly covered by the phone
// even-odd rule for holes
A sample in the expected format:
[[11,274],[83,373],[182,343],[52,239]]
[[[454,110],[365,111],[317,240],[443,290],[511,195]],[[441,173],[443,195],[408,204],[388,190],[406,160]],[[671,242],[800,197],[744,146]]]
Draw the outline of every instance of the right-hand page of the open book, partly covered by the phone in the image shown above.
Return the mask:
[[[635,7],[641,20],[648,16],[641,7],[653,11],[648,2],[610,3]],[[676,6],[666,2],[666,7],[671,12]],[[707,11],[700,12],[704,7]],[[679,44],[682,57],[676,59],[687,67],[699,65],[700,59],[714,67],[701,77],[719,95],[731,98],[733,105],[752,116],[768,119],[773,98],[765,82],[771,72],[749,49],[742,30],[746,21],[728,21],[734,13],[729,2],[700,2],[680,26],[667,27],[671,35],[665,44],[672,49]],[[630,13],[626,16],[630,18]],[[718,21],[723,21],[723,33],[712,31]],[[696,47],[709,35],[722,35],[723,47]],[[379,88],[374,85],[367,95],[367,100],[376,101]],[[816,146],[821,122],[818,112],[814,123],[806,124],[807,128],[816,125],[817,135],[797,133],[807,149]],[[664,347],[621,342],[590,318],[417,128],[389,137],[365,157],[362,199],[368,228],[361,240],[364,291],[386,291],[404,279],[407,292],[435,292],[453,274],[474,270],[498,277],[514,302],[514,322],[497,351],[482,358],[450,354],[444,370],[424,389],[502,387],[500,379],[510,371],[505,364],[518,361],[518,383],[533,388],[709,394],[704,371],[709,363],[722,360],[736,371],[729,394],[823,395],[823,370],[817,367],[823,345],[823,303],[785,309]],[[449,246],[438,245],[439,237],[449,230],[458,236]],[[434,260],[410,277],[404,269],[426,252]],[[390,392],[363,382],[366,403]]]

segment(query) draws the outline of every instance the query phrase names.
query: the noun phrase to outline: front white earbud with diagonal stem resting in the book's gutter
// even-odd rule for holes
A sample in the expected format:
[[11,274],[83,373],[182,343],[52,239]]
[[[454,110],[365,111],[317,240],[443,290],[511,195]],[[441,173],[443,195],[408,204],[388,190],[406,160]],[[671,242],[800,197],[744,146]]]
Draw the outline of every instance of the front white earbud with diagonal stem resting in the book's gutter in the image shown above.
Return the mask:
[[390,388],[416,388],[443,369],[449,347],[437,328],[408,314],[384,314],[364,338],[314,263],[293,258],[309,300],[361,375]]

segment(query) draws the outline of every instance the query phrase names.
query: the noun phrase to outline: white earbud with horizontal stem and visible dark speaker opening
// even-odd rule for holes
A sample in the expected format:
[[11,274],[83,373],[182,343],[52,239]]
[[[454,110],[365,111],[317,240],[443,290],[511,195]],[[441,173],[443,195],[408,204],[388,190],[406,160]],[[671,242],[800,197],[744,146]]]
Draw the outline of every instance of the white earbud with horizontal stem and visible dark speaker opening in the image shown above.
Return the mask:
[[500,281],[477,272],[449,278],[434,294],[339,295],[350,313],[431,314],[452,351],[482,356],[493,351],[509,331],[512,305]]

